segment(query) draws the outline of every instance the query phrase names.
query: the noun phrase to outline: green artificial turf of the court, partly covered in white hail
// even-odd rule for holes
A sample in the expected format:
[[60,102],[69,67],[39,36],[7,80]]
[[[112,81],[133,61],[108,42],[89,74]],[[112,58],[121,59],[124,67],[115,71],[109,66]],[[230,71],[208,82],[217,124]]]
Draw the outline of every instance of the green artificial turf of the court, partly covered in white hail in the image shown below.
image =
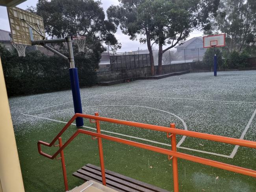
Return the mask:
[[[134,81],[111,87],[81,89],[82,98],[87,98],[82,103],[83,113],[94,114],[95,111],[98,111],[100,116],[167,127],[174,122],[178,128],[184,129],[185,125],[179,119],[181,118],[188,130],[239,138],[256,108],[256,103],[254,103],[256,97],[255,94],[252,94],[256,90],[253,86],[256,72],[223,72],[219,73],[217,78],[211,78],[211,75],[211,73],[193,73],[157,81]],[[61,162],[39,155],[36,143],[38,140],[50,142],[65,125],[42,119],[42,117],[64,122],[71,118],[72,102],[67,103],[70,100],[72,101],[70,91],[17,97],[9,100],[15,124],[24,186],[28,192],[64,191]],[[58,105],[61,103],[65,104]],[[52,105],[56,106],[48,107]],[[48,108],[41,109],[45,107]],[[31,110],[37,111],[28,112]],[[26,114],[39,118],[33,118]],[[87,120],[85,126],[95,127]],[[63,141],[65,142],[76,129],[75,126],[70,126],[62,137]],[[101,129],[170,144],[165,133],[156,131],[104,122],[101,123]],[[254,118],[245,139],[256,140],[255,129],[256,119]],[[110,133],[108,135],[117,137]],[[120,137],[169,148],[169,146],[134,138]],[[180,138],[181,136],[177,136],[177,142]],[[234,149],[232,145],[189,137],[181,146],[223,155],[230,155]],[[171,161],[167,160],[166,155],[107,140],[103,141],[103,147],[106,169],[170,191],[173,190],[172,166],[170,166]],[[56,150],[57,148],[54,147],[50,149],[43,147],[43,151],[50,154]],[[255,149],[240,147],[233,159],[181,148],[178,148],[178,151],[256,170]],[[73,172],[87,163],[99,165],[97,141],[92,140],[89,136],[79,135],[64,152],[69,188],[83,183],[82,180],[72,176]],[[178,160],[178,168],[181,192],[256,191],[256,182],[253,177],[182,159]]]

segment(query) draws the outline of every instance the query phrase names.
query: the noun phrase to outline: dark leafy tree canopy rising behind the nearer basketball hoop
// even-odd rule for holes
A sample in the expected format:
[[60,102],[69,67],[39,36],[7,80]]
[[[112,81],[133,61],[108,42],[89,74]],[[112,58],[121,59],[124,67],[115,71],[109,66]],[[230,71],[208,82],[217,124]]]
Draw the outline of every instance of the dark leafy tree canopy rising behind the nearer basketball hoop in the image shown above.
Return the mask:
[[93,0],[39,0],[28,11],[43,17],[48,36],[64,38],[69,34],[86,36],[86,47],[93,52],[104,51],[102,43],[120,48],[113,35],[116,26],[105,19],[99,1]]

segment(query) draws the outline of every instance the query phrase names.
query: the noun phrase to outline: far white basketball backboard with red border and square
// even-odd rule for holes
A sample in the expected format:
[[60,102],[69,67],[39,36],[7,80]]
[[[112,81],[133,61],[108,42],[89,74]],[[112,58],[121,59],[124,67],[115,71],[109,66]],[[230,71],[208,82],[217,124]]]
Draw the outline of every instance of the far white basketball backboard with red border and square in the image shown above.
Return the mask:
[[225,46],[225,34],[203,37],[204,48]]

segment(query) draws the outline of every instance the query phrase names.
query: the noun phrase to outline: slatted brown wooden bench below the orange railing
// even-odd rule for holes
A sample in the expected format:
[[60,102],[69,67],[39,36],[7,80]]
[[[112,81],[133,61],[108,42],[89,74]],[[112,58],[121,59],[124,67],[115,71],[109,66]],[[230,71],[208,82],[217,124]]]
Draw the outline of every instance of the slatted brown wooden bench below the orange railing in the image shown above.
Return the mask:
[[[105,170],[105,174],[107,186],[120,192],[168,192],[159,187],[109,170]],[[77,170],[77,172],[74,172],[73,175],[85,181],[93,180],[102,183],[100,167],[92,164],[83,166],[81,169]]]

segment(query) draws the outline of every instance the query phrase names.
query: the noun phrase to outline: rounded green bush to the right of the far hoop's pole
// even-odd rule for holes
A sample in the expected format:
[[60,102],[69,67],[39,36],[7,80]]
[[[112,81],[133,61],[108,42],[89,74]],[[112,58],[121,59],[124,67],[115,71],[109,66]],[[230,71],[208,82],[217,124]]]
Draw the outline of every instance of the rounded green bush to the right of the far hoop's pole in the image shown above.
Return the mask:
[[233,51],[230,53],[228,58],[228,67],[229,68],[247,67],[249,65],[247,63],[248,57],[249,55],[246,52],[239,53],[239,52]]

